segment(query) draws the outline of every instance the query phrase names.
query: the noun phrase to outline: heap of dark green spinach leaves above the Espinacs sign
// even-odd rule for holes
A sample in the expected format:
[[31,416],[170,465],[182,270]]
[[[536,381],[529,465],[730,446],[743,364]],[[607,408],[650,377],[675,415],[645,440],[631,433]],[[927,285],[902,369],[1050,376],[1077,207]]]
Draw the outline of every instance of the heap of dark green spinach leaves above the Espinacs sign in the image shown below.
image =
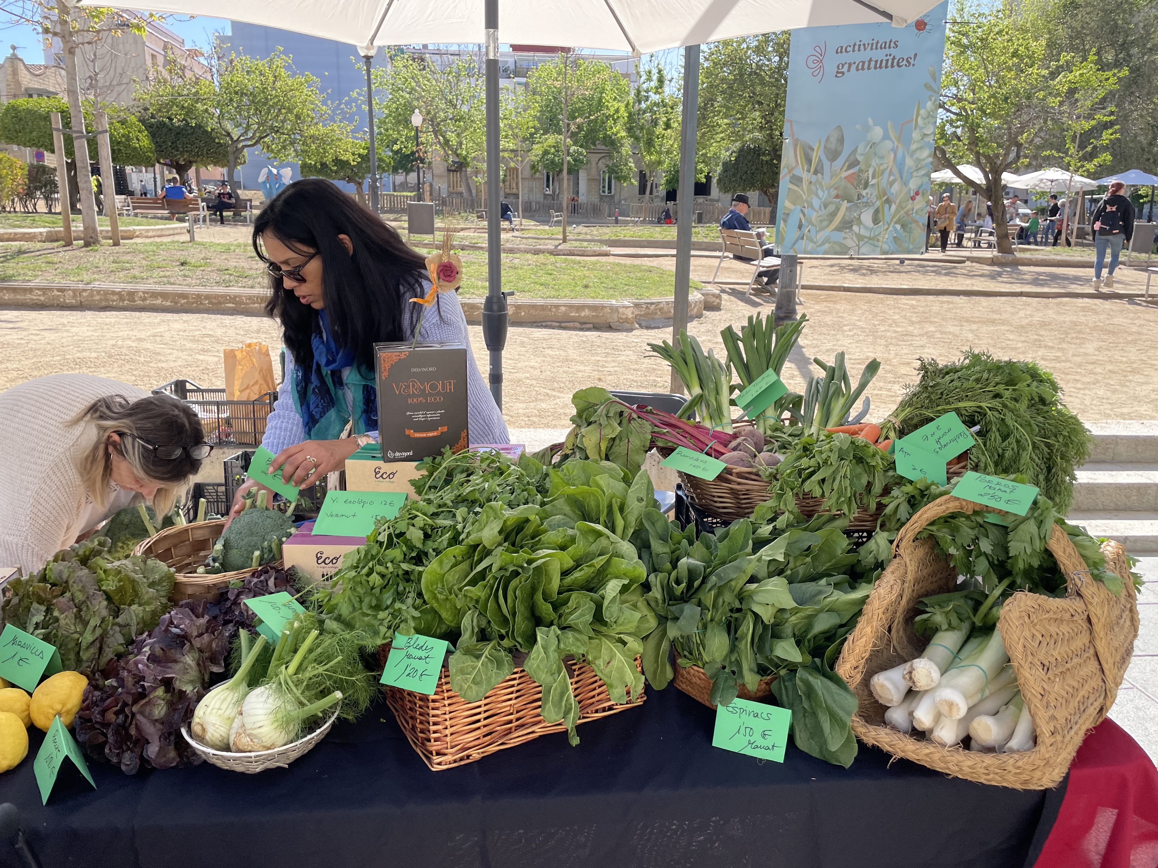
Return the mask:
[[694,528],[645,510],[633,542],[658,624],[644,640],[644,671],[665,687],[674,648],[676,665],[704,669],[719,705],[735,699],[740,684],[755,692],[761,678],[777,676],[774,691],[792,709],[797,745],[848,766],[857,703],[829,665],[872,584],[849,578],[857,554],[838,527],[823,523],[761,538],[767,544],[754,551],[748,521],[696,538]]

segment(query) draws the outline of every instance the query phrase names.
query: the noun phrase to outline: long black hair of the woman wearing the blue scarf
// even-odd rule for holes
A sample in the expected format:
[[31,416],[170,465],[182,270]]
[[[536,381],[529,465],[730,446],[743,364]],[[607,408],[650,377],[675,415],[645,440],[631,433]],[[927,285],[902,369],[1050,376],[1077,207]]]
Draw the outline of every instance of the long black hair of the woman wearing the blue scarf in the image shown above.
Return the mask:
[[[374,341],[405,339],[403,317],[417,319],[418,306],[408,302],[422,293],[426,260],[369,208],[329,181],[303,178],[278,193],[254,221],[254,251],[269,262],[261,245],[264,231],[295,253],[317,251],[331,337],[339,347],[351,348],[366,370],[374,370]],[[338,235],[349,236],[352,255]],[[270,289],[265,310],[281,323],[294,363],[308,370],[317,311],[299,302],[281,278],[271,275]]]

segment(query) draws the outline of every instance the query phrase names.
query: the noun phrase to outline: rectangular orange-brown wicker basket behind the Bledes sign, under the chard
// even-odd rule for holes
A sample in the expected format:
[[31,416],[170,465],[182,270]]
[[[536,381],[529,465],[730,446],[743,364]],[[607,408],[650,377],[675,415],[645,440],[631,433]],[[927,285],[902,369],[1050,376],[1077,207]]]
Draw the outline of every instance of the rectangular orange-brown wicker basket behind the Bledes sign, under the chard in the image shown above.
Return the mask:
[[[384,664],[390,646],[379,648]],[[646,696],[633,703],[614,703],[607,685],[586,663],[566,661],[571,690],[579,703],[579,722],[587,723],[609,714],[637,708]],[[636,668],[643,671],[639,657]],[[386,703],[406,734],[411,746],[433,771],[474,763],[488,753],[514,748],[548,733],[563,733],[563,723],[548,723],[540,714],[543,689],[522,667],[499,682],[477,703],[468,703],[450,690],[450,675],[444,665],[434,693],[425,696],[401,687],[386,686]]]

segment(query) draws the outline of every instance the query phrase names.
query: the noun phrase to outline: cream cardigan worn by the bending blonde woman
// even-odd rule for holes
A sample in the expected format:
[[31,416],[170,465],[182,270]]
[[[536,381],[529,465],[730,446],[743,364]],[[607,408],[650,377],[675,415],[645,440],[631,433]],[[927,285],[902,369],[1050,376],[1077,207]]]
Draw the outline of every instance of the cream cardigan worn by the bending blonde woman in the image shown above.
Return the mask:
[[110,487],[105,509],[94,507],[78,462],[91,447],[91,426],[68,420],[97,398],[148,395],[116,380],[87,374],[56,374],[30,380],[0,393],[0,567],[24,574],[44,566],[60,549],[118,509],[134,492]]

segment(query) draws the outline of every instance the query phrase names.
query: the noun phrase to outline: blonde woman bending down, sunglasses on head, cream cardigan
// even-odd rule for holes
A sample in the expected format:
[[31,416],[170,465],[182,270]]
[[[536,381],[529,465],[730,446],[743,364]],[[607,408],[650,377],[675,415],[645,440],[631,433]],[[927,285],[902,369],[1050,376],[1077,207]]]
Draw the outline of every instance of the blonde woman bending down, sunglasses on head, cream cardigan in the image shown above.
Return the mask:
[[168,513],[212,449],[188,404],[87,374],[13,387],[0,419],[0,567],[25,574],[118,509]]

